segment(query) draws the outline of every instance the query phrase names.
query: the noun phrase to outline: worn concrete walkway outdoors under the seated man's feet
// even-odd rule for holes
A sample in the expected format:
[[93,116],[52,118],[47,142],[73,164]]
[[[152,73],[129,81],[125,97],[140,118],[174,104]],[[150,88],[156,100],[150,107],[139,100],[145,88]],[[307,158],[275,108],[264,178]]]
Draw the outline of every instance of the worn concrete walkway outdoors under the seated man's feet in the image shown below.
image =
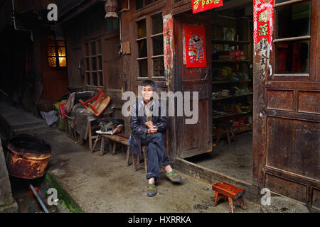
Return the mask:
[[[162,172],[158,193],[149,198],[144,170],[127,167],[124,153],[90,153],[87,145],[74,143],[58,130],[37,136],[53,148],[48,172],[85,212],[228,212],[226,201],[212,206],[213,191],[206,182],[181,174],[183,182],[174,184]],[[245,202],[247,209],[237,207],[236,212],[260,212],[259,205]]]

